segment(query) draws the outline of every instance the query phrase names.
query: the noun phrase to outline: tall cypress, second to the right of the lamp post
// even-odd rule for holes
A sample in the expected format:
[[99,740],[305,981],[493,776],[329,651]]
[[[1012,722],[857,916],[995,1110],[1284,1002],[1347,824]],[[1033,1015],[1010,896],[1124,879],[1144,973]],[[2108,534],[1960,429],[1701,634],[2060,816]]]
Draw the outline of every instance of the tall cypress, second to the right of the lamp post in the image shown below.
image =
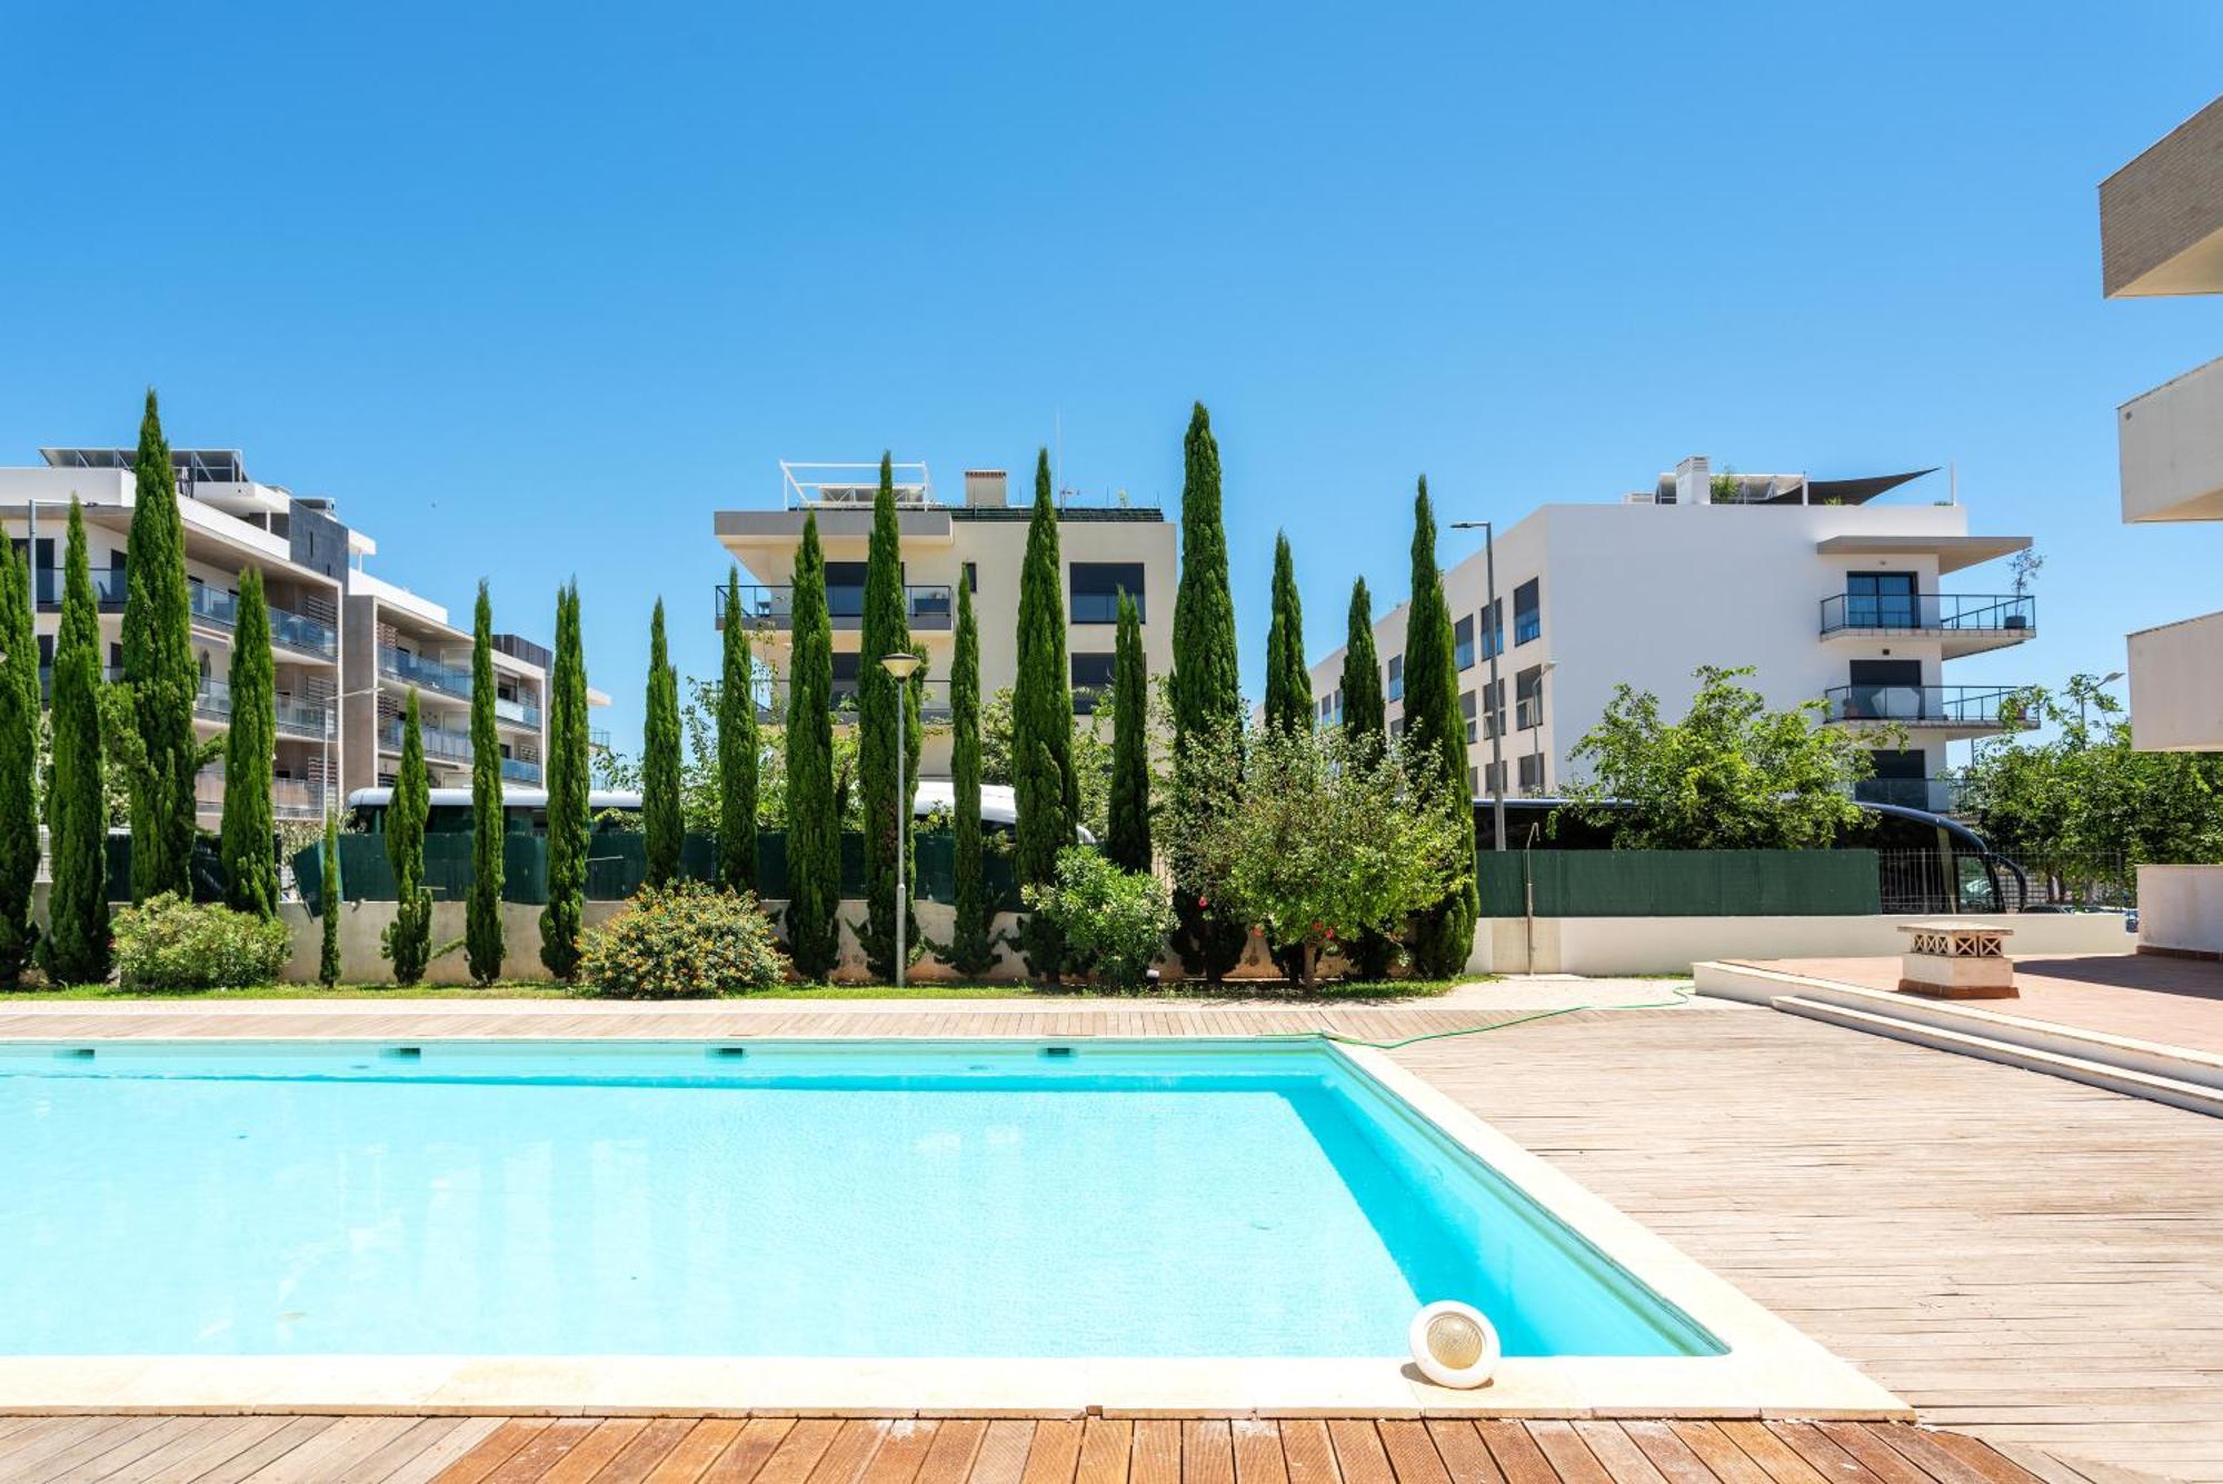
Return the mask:
[[[1049,489],[1049,449],[1034,462],[1034,515],[1018,569],[1018,684],[1011,686],[1011,795],[1018,804],[1016,869],[1023,884],[1058,880],[1058,851],[1080,822],[1074,773],[1074,678],[1065,662],[1065,564],[1058,560],[1058,502]],[[1043,913],[1023,929],[1027,971],[1056,982],[1065,935]]]

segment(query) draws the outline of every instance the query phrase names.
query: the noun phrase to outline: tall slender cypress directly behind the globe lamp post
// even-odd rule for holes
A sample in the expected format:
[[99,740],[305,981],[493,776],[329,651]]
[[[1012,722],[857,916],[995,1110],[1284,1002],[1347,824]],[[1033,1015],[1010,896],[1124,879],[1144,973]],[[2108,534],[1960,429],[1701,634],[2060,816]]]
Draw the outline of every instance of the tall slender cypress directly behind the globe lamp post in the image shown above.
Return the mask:
[[[918,682],[896,680],[880,666],[883,655],[911,651],[911,622],[903,598],[903,535],[896,524],[896,475],[880,455],[880,491],[871,500],[871,547],[865,558],[865,620],[858,631],[858,784],[865,804],[865,922],[858,942],[874,977],[896,977],[896,838],[898,820],[909,820],[918,793]],[[896,791],[896,746],[903,746],[903,791]],[[909,849],[909,831],[903,831]],[[903,880],[916,882],[911,862]],[[918,915],[905,893],[905,944],[918,942]]]

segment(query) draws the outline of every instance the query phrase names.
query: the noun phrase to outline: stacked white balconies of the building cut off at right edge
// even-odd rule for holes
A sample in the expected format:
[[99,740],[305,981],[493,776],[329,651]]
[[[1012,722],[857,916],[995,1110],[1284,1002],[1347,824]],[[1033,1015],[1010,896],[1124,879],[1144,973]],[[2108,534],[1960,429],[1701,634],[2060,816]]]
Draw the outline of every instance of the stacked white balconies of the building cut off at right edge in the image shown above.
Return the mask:
[[[2223,293],[2223,98],[2099,187],[2107,298]],[[2223,360],[2116,409],[2123,520],[2223,520]],[[2223,613],[2130,635],[2141,751],[2223,751]],[[2141,946],[2223,955],[2223,866],[2139,866]]]

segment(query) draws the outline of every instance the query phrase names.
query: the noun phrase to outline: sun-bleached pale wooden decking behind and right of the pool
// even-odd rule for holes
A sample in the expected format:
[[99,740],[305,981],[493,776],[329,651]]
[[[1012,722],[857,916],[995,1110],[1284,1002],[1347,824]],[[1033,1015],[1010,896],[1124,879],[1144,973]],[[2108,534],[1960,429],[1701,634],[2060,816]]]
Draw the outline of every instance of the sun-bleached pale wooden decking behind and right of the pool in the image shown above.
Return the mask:
[[[1498,1024],[1585,995],[1592,1002],[1643,1000],[1663,995],[1665,986],[1512,984],[1487,991],[1400,1006],[1258,1009],[1031,1000],[971,1006],[202,1002],[153,1009],[56,1002],[0,1006],[0,1037],[1078,1037],[1325,1029],[1387,1042]],[[2074,1468],[2085,1477],[2136,1471],[2223,1480],[2223,1180],[2216,1177],[2223,1120],[1709,1000],[1669,1011],[1583,1011],[1489,1035],[1432,1040],[1398,1051],[1396,1060],[1890,1386],[1925,1424],[1998,1444],[2047,1477],[2067,1480],[2056,1468]],[[900,1400],[891,1404],[900,1411]],[[171,1420],[167,1426],[182,1431],[209,1422]],[[391,1420],[353,1422],[380,1435],[391,1426]],[[322,1424],[300,1420],[298,1426]],[[425,1426],[449,1435],[458,1424]],[[1563,1437],[1552,1426],[1536,1426],[1545,1428],[1543,1437]],[[1589,1426],[1576,1424],[1574,1435],[1583,1437],[1581,1428]],[[1527,1431],[1536,1435],[1534,1426]],[[1376,1428],[1385,1442],[1392,1435],[1414,1437],[1398,1424]],[[1449,1435],[1465,1437],[1456,1428]],[[1683,1433],[1632,1422],[1621,1435],[1643,1444]],[[1394,1453],[1392,1473],[1365,1473],[1365,1466],[1312,1473],[1287,1448],[1289,1433],[1276,1437],[1285,1442],[1292,1480],[1436,1477],[1416,1462],[1394,1466]],[[1847,1444],[1838,1446],[1850,1453]],[[1694,1473],[1681,1455],[1661,1457],[1643,1446],[1636,1455],[1616,1451],[1614,1462],[1592,1453],[1598,1468],[1592,1471],[1578,1462],[1581,1453],[1561,1453],[1576,1462],[1556,1466],[1556,1477],[1592,1484],[1605,1477],[1812,1484],[1807,1471],[1912,1484],[1976,1477],[1921,1464],[1894,1475],[1858,1455],[1865,1473],[1816,1468],[1805,1455],[1792,1464],[1774,1453],[1776,1468],[1770,1468],[1767,1460],[1752,1464],[1750,1451],[1743,1453],[1750,1468],[1707,1460],[1707,1471]],[[1414,1457],[1420,1455],[1414,1451]],[[818,1477],[820,1462],[803,1473],[782,1464],[762,1477]],[[1240,1466],[1240,1457],[1236,1462]],[[1547,1484],[1547,1475],[1534,1471],[1501,1473],[1516,1484]],[[16,1475],[0,1455],[4,1477]],[[300,1477],[340,1475],[311,1471]],[[1178,1477],[1234,1475],[1216,1462],[1194,1468],[1185,1462]],[[1243,1477],[1280,1475],[1258,1466]],[[1454,1471],[1449,1477],[1496,1475]]]

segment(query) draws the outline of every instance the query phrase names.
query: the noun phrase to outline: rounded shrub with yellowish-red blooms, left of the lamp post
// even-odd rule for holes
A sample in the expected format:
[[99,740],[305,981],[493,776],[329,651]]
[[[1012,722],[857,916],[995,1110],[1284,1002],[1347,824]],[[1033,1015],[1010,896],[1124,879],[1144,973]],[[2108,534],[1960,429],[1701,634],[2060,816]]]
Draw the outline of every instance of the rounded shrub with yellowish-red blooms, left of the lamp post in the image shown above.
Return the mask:
[[674,882],[642,886],[607,926],[587,933],[578,975],[600,995],[685,1000],[778,984],[787,960],[754,895]]

